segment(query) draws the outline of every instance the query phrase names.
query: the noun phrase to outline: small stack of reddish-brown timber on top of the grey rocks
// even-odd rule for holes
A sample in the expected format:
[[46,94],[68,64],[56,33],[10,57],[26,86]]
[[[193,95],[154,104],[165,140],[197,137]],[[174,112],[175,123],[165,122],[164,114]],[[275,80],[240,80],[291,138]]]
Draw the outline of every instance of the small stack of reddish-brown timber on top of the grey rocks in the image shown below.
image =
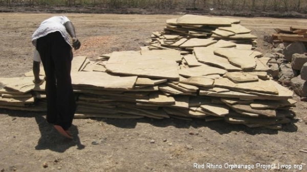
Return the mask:
[[274,43],[280,42],[307,42],[307,27],[291,26],[289,30],[274,29],[272,35]]

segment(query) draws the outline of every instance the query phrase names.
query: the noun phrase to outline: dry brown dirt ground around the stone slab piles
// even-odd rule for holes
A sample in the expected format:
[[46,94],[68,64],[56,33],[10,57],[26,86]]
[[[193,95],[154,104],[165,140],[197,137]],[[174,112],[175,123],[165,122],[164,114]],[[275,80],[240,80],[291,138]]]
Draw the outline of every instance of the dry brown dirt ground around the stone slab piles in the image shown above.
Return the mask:
[[[82,43],[75,56],[93,59],[113,51],[139,50],[152,32],[163,30],[166,19],[181,16],[0,13],[0,77],[20,77],[32,70],[32,33],[54,15],[67,15],[75,24]],[[258,36],[262,53],[270,50],[262,39],[274,33],[273,28],[307,25],[307,20],[297,18],[239,18]],[[73,141],[48,125],[45,113],[0,109],[0,170],[307,171],[307,154],[299,152],[307,148],[307,125],[301,120],[307,103],[295,94],[294,99],[296,117],[279,131],[223,121],[92,118],[74,119]],[[234,164],[246,166],[231,170]],[[266,169],[274,164],[279,169]]]

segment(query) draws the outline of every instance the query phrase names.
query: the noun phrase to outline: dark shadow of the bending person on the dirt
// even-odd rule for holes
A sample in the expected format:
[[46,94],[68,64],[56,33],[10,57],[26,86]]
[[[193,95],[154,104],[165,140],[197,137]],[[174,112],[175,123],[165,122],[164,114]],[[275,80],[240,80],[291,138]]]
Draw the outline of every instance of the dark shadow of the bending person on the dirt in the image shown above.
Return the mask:
[[40,115],[35,116],[41,137],[39,138],[35,150],[51,150],[55,152],[65,152],[72,146],[77,145],[77,149],[84,149],[85,146],[81,144],[78,136],[78,128],[74,125],[71,126],[70,131],[73,139],[66,138],[60,135],[53,125],[48,124],[46,119]]

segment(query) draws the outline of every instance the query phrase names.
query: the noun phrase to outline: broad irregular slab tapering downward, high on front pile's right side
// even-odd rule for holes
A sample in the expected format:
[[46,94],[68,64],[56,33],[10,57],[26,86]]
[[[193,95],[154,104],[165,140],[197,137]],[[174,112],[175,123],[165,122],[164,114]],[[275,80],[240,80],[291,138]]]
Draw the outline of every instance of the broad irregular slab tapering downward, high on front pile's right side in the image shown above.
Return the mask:
[[[234,66],[243,70],[256,68],[255,57],[262,55],[260,52],[251,50],[238,50],[235,48],[221,48],[214,51],[217,56],[226,57]],[[197,57],[197,56],[196,56]]]

